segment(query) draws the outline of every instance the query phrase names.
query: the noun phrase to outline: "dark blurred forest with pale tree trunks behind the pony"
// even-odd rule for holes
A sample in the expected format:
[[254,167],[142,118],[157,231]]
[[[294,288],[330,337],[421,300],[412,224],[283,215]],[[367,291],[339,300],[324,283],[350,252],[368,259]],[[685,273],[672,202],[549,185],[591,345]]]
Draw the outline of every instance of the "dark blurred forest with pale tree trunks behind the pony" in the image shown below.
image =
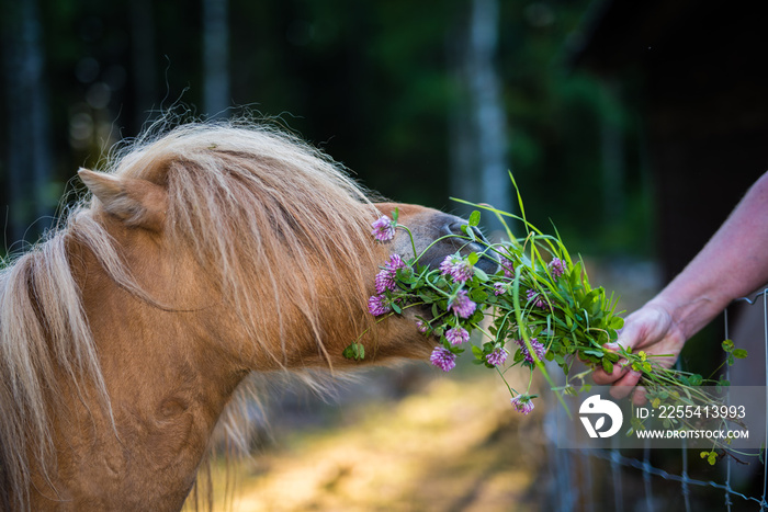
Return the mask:
[[647,257],[632,91],[568,66],[588,3],[4,0],[5,248],[50,225],[79,167],[187,107],[278,117],[402,202],[511,211],[510,170],[542,228]]

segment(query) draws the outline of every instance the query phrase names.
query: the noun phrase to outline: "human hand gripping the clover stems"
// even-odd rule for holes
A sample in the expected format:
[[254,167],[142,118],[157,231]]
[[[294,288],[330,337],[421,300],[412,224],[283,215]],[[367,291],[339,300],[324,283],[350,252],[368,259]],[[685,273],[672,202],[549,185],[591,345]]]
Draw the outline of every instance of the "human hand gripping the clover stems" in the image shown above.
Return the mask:
[[[613,351],[623,346],[624,349],[631,348],[634,353],[642,350],[648,355],[669,355],[654,357],[654,361],[664,367],[671,367],[685,343],[686,338],[669,311],[662,305],[646,304],[626,318],[617,342],[603,346]],[[640,372],[635,372],[623,363],[626,363],[626,360],[613,365],[613,372],[610,374],[601,367],[596,368],[592,373],[596,384],[613,386],[611,396],[614,398],[623,398],[629,395],[641,377]],[[635,405],[645,402],[645,392],[642,386],[635,388],[632,399]]]

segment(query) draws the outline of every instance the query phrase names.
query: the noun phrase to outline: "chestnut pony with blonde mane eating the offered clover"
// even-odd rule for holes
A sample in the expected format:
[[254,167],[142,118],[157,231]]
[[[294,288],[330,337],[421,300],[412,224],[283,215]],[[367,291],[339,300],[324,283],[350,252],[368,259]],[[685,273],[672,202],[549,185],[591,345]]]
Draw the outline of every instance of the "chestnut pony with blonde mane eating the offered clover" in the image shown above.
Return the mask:
[[[425,357],[413,321],[366,310],[399,208],[417,251],[462,220],[373,204],[329,158],[258,126],[145,138],[0,274],[0,507],[179,510],[214,425],[252,372]],[[425,258],[459,249],[438,242]]]

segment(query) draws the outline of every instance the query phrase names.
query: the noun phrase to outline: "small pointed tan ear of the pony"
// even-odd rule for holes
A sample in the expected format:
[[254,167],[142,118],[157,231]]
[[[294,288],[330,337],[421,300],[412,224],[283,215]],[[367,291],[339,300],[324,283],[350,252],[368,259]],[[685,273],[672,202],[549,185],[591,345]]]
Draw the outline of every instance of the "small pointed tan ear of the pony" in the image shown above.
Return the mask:
[[162,230],[168,194],[160,185],[88,169],[80,169],[78,174],[88,190],[101,201],[104,209],[127,226],[158,232]]

